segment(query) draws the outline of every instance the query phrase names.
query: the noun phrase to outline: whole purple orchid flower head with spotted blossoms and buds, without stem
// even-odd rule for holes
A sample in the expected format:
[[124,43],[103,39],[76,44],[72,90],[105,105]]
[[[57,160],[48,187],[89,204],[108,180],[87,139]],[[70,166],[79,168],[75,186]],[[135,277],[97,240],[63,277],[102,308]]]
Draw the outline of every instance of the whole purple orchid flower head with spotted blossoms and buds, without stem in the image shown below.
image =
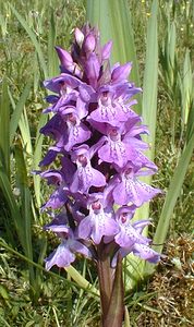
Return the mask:
[[111,40],[100,45],[96,27],[75,28],[71,51],[56,47],[61,73],[44,82],[54,94],[46,98],[50,107],[44,113],[51,116],[40,133],[51,143],[39,162],[46,168],[36,173],[52,186],[41,210],[58,211],[45,230],[61,242],[46,259],[47,269],[69,266],[76,254],[90,258],[92,247],[96,261],[101,246],[112,249],[112,267],[118,254],[160,259],[143,235],[150,220],[133,219],[160,193],[140,180],[157,171],[144,154],[148,128],[134,111],[142,89],[128,80],[131,62],[111,66]]

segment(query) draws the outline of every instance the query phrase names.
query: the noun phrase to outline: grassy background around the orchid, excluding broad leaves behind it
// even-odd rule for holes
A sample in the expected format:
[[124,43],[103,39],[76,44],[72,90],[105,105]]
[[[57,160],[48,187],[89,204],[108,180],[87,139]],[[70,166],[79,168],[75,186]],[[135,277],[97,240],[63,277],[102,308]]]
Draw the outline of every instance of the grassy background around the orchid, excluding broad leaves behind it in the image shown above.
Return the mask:
[[[151,1],[125,2],[140,86],[145,88]],[[77,261],[76,270],[44,269],[44,258],[58,241],[43,231],[49,218],[39,208],[49,190],[32,174],[48,146],[38,131],[46,120],[43,81],[59,73],[53,46],[70,49],[73,28],[81,27],[85,16],[81,0],[0,1],[0,326],[99,324],[97,291],[85,290],[85,278],[97,288],[92,263]],[[158,1],[155,161],[159,172],[153,184],[166,195],[151,203],[149,215],[155,221],[153,235],[158,221],[169,217],[162,225],[168,230],[167,258],[149,281],[141,278],[133,290],[126,284],[131,326],[192,326],[194,319],[193,22],[192,0]],[[149,108],[143,117],[151,118]],[[163,229],[160,226],[155,238],[159,240]]]

